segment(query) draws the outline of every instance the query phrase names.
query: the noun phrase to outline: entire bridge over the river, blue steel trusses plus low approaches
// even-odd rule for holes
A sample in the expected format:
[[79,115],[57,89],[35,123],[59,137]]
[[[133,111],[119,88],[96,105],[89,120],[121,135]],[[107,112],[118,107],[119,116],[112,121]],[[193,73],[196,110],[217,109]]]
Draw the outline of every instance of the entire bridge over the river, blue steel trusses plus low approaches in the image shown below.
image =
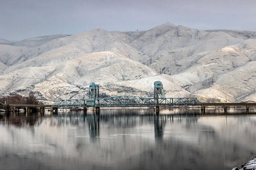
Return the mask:
[[[59,99],[53,105],[36,105],[36,104],[9,104],[13,111],[24,108],[26,112],[31,112],[31,108],[37,108],[38,111],[44,111],[46,107],[50,111],[57,112],[58,108],[79,108],[93,107],[97,112],[100,107],[154,107],[156,112],[161,106],[198,106],[201,112],[205,113],[207,107],[223,107],[224,113],[227,113],[227,107],[246,107],[247,113],[249,107],[256,107],[256,103],[201,103],[196,98],[166,98],[162,82],[154,82],[154,96],[152,98],[119,95],[107,98],[99,97],[99,84],[91,83],[88,89],[88,98],[81,99]],[[3,104],[6,107],[6,104]],[[17,110],[18,111],[18,110]]]

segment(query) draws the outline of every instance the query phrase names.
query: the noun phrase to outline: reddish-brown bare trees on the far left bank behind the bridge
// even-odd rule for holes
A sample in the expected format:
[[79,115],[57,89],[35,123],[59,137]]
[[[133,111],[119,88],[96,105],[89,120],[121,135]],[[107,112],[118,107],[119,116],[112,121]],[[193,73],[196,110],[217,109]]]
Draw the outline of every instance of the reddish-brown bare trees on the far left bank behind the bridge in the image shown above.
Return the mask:
[[22,96],[22,95],[12,95],[0,97],[0,104],[43,104],[39,102],[35,95]]

